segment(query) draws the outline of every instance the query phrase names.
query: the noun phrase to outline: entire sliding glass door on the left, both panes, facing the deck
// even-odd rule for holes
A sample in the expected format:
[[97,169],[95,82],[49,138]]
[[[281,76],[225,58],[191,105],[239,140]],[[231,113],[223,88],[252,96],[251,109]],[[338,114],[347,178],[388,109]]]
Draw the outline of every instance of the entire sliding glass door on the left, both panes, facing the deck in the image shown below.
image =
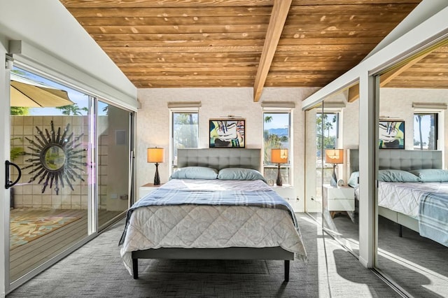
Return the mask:
[[10,90],[7,292],[123,218],[132,201],[131,111],[26,67],[11,71]]

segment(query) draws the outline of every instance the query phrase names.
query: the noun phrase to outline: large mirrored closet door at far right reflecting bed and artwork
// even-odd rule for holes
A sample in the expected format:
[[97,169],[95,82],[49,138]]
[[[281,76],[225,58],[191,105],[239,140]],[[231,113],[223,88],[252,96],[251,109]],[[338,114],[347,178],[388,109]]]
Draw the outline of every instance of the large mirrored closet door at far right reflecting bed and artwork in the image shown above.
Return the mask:
[[[429,171],[447,169],[448,89],[446,85],[437,85],[446,80],[447,73],[440,72],[437,78],[430,76],[436,67],[433,62],[437,62],[437,69],[448,68],[447,44],[448,41],[444,41],[427,48],[410,57],[406,64],[386,69],[375,80],[379,81],[376,86],[379,90],[379,138],[376,140],[379,169],[375,266],[391,283],[412,297],[448,297],[448,243],[440,237],[447,234],[444,224],[447,211],[440,204],[446,199],[440,198],[447,197],[448,182],[443,178],[431,181],[421,176],[422,182],[409,183],[407,179],[403,179],[404,182],[385,179],[384,173],[388,173],[387,170],[405,173],[421,170],[414,164],[422,163],[410,156],[432,159],[433,150],[442,151],[440,158],[433,160],[434,164],[438,161],[442,166]],[[403,85],[409,78],[418,87]],[[387,158],[388,150],[393,151],[390,158]],[[398,162],[404,158],[412,158],[412,163]],[[418,172],[413,173],[418,175]],[[430,198],[438,204],[430,202]],[[440,220],[436,219],[437,215],[425,213],[428,204],[435,206]],[[428,222],[434,224],[431,226]],[[428,226],[437,232],[425,233]]]

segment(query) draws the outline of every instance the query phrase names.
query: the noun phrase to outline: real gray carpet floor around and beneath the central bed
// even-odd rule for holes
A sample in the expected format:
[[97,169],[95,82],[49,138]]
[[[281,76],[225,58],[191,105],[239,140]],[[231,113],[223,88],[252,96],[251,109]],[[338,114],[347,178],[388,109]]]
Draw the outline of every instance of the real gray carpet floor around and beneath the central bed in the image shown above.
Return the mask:
[[139,260],[139,279],[123,266],[118,222],[6,297],[400,297],[365,269],[309,215],[297,213],[307,264],[283,261]]

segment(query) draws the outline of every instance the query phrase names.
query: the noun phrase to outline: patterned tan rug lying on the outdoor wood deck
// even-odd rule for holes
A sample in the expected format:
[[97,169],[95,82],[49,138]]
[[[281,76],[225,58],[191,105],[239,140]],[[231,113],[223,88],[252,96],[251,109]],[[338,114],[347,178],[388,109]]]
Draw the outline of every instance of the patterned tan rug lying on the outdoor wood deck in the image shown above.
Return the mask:
[[45,216],[29,218],[29,216],[11,216],[10,218],[10,249],[13,250],[29,241],[36,240],[59,227],[64,227],[80,217],[75,216]]

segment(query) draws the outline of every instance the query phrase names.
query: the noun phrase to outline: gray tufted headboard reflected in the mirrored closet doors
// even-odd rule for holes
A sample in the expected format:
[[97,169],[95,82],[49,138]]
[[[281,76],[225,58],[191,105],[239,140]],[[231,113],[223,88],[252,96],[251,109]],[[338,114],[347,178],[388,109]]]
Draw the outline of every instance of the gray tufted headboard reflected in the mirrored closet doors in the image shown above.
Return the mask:
[[[442,169],[442,151],[381,149],[378,157],[379,169],[418,170]],[[349,171],[358,171],[358,149],[349,150]]]

